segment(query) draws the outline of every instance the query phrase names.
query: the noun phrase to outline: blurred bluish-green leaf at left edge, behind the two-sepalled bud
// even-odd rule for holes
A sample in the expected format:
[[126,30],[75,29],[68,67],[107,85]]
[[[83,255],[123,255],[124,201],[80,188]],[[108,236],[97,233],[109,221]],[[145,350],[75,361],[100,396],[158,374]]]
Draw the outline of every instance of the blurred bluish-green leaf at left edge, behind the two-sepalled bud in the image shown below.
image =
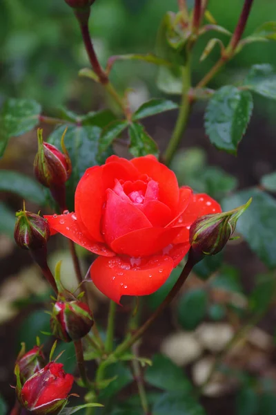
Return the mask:
[[0,170],[0,191],[18,194],[23,199],[38,205],[47,204],[43,187],[33,178],[22,173]]

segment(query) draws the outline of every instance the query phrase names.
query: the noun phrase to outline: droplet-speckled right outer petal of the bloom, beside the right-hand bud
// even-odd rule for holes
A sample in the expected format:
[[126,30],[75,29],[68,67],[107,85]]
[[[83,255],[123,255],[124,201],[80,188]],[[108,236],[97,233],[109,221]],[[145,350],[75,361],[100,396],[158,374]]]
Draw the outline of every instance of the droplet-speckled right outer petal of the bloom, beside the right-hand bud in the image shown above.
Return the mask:
[[189,240],[190,225],[199,217],[205,214],[220,213],[221,207],[208,194],[194,194],[192,201],[190,201],[188,208],[180,216],[179,225],[184,225],[181,232],[177,235],[173,243],[184,243]]

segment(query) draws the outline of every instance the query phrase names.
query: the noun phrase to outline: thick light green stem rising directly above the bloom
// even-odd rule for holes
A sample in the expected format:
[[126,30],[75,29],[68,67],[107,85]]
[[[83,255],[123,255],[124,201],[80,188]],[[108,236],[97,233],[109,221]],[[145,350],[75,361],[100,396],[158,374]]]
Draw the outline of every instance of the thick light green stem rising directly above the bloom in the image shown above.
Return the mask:
[[188,116],[190,113],[190,97],[189,92],[190,90],[190,57],[188,57],[188,61],[186,66],[183,68],[182,73],[182,98],[181,98],[181,106],[179,109],[177,123],[175,124],[175,129],[172,133],[172,137],[170,138],[170,142],[168,143],[168,147],[164,153],[164,162],[166,165],[170,164],[172,160],[172,156],[175,154],[179,142],[182,138],[184,130],[186,128],[186,124],[188,121]]

